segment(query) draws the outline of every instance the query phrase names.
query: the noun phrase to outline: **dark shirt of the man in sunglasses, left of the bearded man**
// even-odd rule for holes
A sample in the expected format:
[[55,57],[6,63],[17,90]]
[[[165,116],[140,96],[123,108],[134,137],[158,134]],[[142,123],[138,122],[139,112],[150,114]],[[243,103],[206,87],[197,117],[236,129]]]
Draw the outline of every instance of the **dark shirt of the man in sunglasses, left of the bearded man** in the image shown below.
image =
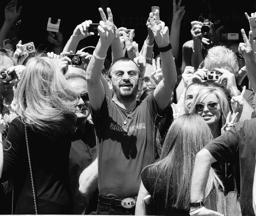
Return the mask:
[[[85,131],[76,129],[73,134],[69,153],[69,178],[74,200],[73,214],[82,214],[88,205],[88,199],[79,192],[79,176],[97,157],[94,127],[86,121]],[[94,201],[94,202],[93,202]],[[97,209],[98,200],[91,200],[89,205]],[[92,208],[93,209],[93,208]]]

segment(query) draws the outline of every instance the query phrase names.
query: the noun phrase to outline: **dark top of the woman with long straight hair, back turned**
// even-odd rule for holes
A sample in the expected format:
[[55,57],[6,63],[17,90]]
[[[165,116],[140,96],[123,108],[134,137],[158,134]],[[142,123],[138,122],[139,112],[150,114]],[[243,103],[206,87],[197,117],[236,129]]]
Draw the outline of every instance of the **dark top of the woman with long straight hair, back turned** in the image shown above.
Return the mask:
[[[152,166],[152,165],[151,165]],[[140,176],[141,181],[145,187],[145,189],[149,192],[151,197],[153,197],[155,184],[153,183],[152,179],[156,179],[156,173],[149,172],[149,167],[145,167]],[[163,176],[160,176],[163,179]],[[172,197],[172,187],[169,187],[170,195]],[[173,215],[173,216],[189,216],[189,211],[183,209],[176,209],[172,207],[165,208],[165,198],[166,198],[166,187],[163,185],[157,193],[154,194],[154,205],[156,209],[156,215]]]

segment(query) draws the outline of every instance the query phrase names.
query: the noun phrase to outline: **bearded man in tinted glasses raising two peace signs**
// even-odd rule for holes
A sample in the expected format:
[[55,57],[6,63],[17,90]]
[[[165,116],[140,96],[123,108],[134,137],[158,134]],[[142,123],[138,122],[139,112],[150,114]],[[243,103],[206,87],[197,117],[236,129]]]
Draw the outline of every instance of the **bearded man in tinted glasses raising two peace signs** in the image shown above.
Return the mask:
[[[96,132],[99,172],[99,203],[97,214],[134,214],[140,188],[140,172],[154,162],[155,133],[159,115],[167,107],[177,75],[169,41],[168,27],[150,13],[156,44],[161,52],[164,79],[141,104],[136,101],[146,59],[142,55],[133,61],[120,58],[109,68],[108,83],[113,89],[112,100],[105,96],[100,73],[108,47],[114,38],[111,10],[108,19],[101,8],[98,26],[100,40],[86,70],[91,114]],[[136,49],[135,49],[136,51]],[[138,56],[138,55],[137,55]],[[139,63],[139,66],[138,64]]]

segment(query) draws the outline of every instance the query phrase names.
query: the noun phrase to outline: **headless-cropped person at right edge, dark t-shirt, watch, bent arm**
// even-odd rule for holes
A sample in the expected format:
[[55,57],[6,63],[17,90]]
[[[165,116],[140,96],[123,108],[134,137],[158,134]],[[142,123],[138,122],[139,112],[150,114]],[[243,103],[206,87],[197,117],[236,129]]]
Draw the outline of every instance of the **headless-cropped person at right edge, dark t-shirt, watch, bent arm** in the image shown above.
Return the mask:
[[[196,155],[191,183],[191,202],[204,202],[204,190],[209,169],[214,162],[230,163],[239,170],[242,215],[254,215],[252,207],[252,186],[255,170],[256,119],[236,123]],[[214,164],[215,165],[215,164]],[[191,207],[191,211],[197,207]],[[216,215],[209,209],[203,209],[197,215]]]

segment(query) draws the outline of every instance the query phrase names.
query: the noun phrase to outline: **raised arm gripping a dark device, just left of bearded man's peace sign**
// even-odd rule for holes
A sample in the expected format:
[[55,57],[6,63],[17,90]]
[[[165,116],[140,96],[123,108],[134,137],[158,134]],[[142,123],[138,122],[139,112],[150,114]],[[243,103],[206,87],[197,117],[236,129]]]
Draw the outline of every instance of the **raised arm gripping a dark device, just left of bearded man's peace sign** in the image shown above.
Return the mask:
[[85,20],[84,22],[76,26],[73,34],[69,38],[62,52],[70,52],[70,50],[72,50],[73,53],[76,53],[76,47],[79,41],[88,36],[94,35],[93,32],[88,32],[88,27],[90,26],[90,23],[92,23],[92,20]]

